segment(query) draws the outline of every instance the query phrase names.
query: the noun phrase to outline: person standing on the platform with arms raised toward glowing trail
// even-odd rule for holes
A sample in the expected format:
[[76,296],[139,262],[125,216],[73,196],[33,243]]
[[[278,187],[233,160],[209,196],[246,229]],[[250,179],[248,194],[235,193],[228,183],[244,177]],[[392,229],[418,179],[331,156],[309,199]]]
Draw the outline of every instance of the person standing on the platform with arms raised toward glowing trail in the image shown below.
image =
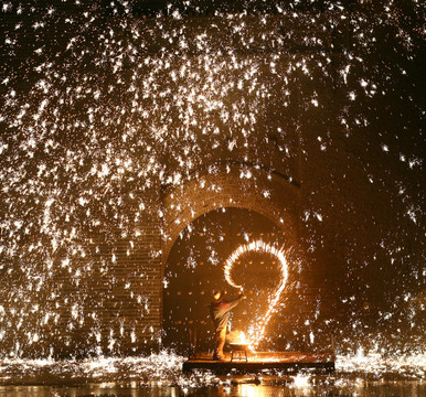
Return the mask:
[[215,348],[213,360],[224,360],[223,346],[226,339],[227,320],[230,312],[246,297],[242,293],[234,300],[226,300],[222,291],[213,292],[213,302],[210,303],[210,316],[214,324]]

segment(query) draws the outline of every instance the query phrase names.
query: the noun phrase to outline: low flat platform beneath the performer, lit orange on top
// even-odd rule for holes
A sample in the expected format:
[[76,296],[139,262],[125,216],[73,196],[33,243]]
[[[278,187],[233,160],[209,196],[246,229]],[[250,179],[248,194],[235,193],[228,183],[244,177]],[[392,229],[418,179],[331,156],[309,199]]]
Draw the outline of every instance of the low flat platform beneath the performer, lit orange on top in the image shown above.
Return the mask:
[[211,371],[216,374],[255,374],[264,369],[268,372],[297,373],[300,369],[329,373],[334,371],[332,353],[309,352],[256,352],[248,355],[248,361],[233,360],[226,354],[225,361],[213,361],[211,354],[199,353],[183,363],[184,373],[194,369]]

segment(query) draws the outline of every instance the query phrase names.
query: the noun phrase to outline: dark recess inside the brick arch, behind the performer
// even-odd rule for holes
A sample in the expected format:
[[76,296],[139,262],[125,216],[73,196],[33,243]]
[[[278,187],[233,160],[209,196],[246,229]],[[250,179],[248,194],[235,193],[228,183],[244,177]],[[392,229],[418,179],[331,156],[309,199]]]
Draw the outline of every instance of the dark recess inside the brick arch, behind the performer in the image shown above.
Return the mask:
[[[201,215],[175,240],[168,257],[163,291],[163,345],[184,352],[189,333],[196,331],[198,348],[212,346],[209,303],[212,290],[224,290],[228,298],[238,290],[224,278],[224,261],[241,245],[259,240],[288,247],[278,225],[255,211],[223,207]],[[291,266],[290,266],[291,267]],[[291,269],[291,278],[295,280]],[[280,281],[279,264],[266,253],[246,253],[233,268],[233,278],[243,285],[247,299],[233,310],[230,331],[247,333],[268,308]],[[270,319],[263,348],[284,348],[294,341],[291,322],[297,321],[295,289],[283,297]]]

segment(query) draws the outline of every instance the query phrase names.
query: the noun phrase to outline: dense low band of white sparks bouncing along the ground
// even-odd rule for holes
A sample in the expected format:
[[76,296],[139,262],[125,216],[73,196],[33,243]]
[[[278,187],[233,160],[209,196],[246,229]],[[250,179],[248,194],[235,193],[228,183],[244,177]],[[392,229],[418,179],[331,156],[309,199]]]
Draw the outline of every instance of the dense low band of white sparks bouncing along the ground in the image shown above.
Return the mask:
[[[254,358],[251,357],[251,360]],[[195,390],[198,387],[219,386],[223,383],[223,378],[211,372],[199,372],[192,375],[182,374],[184,361],[185,357],[169,351],[151,354],[147,357],[97,357],[96,360],[83,361],[6,358],[0,360],[0,385],[8,385],[12,379],[20,379],[21,385],[46,384],[46,373],[50,374],[51,382],[58,382],[60,384],[63,384],[66,379],[77,378],[82,383],[79,387],[87,384],[94,387],[95,384],[114,384],[116,382],[116,387],[123,387],[125,384],[134,389],[147,386],[178,385]],[[358,352],[354,355],[338,355],[336,366],[337,373],[331,377],[327,377],[327,383],[333,394],[336,394],[337,387],[352,386],[352,388],[347,388],[347,393],[351,393],[345,395],[359,395],[354,391],[356,391],[356,384],[360,380],[364,379],[365,382],[365,379],[371,378],[377,383],[377,378],[388,376],[391,372],[395,371],[400,374],[398,382],[402,379],[424,382],[423,379],[426,376],[424,354],[388,357]],[[268,376],[268,372],[263,373],[263,375]],[[278,373],[277,375],[273,378],[275,383],[281,379],[285,385],[288,385],[288,374]],[[321,380],[321,376],[317,379],[315,374],[299,374],[299,377],[301,376],[309,376],[310,380]],[[230,380],[231,378],[226,377],[226,382]],[[319,390],[319,385],[316,382],[309,383],[309,387],[312,388],[312,391]],[[113,393],[111,390],[107,391]],[[95,393],[94,389],[90,389],[90,394],[93,393]],[[104,394],[106,394],[105,389]]]

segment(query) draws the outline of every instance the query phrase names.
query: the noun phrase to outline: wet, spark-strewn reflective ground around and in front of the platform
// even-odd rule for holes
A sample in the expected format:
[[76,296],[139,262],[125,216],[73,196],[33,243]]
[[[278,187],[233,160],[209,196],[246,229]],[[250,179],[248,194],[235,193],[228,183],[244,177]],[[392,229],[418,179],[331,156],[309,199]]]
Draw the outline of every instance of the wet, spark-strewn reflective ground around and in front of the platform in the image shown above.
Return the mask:
[[184,361],[170,352],[86,361],[3,360],[0,397],[426,396],[423,354],[338,356],[337,371],[329,374],[183,374]]

